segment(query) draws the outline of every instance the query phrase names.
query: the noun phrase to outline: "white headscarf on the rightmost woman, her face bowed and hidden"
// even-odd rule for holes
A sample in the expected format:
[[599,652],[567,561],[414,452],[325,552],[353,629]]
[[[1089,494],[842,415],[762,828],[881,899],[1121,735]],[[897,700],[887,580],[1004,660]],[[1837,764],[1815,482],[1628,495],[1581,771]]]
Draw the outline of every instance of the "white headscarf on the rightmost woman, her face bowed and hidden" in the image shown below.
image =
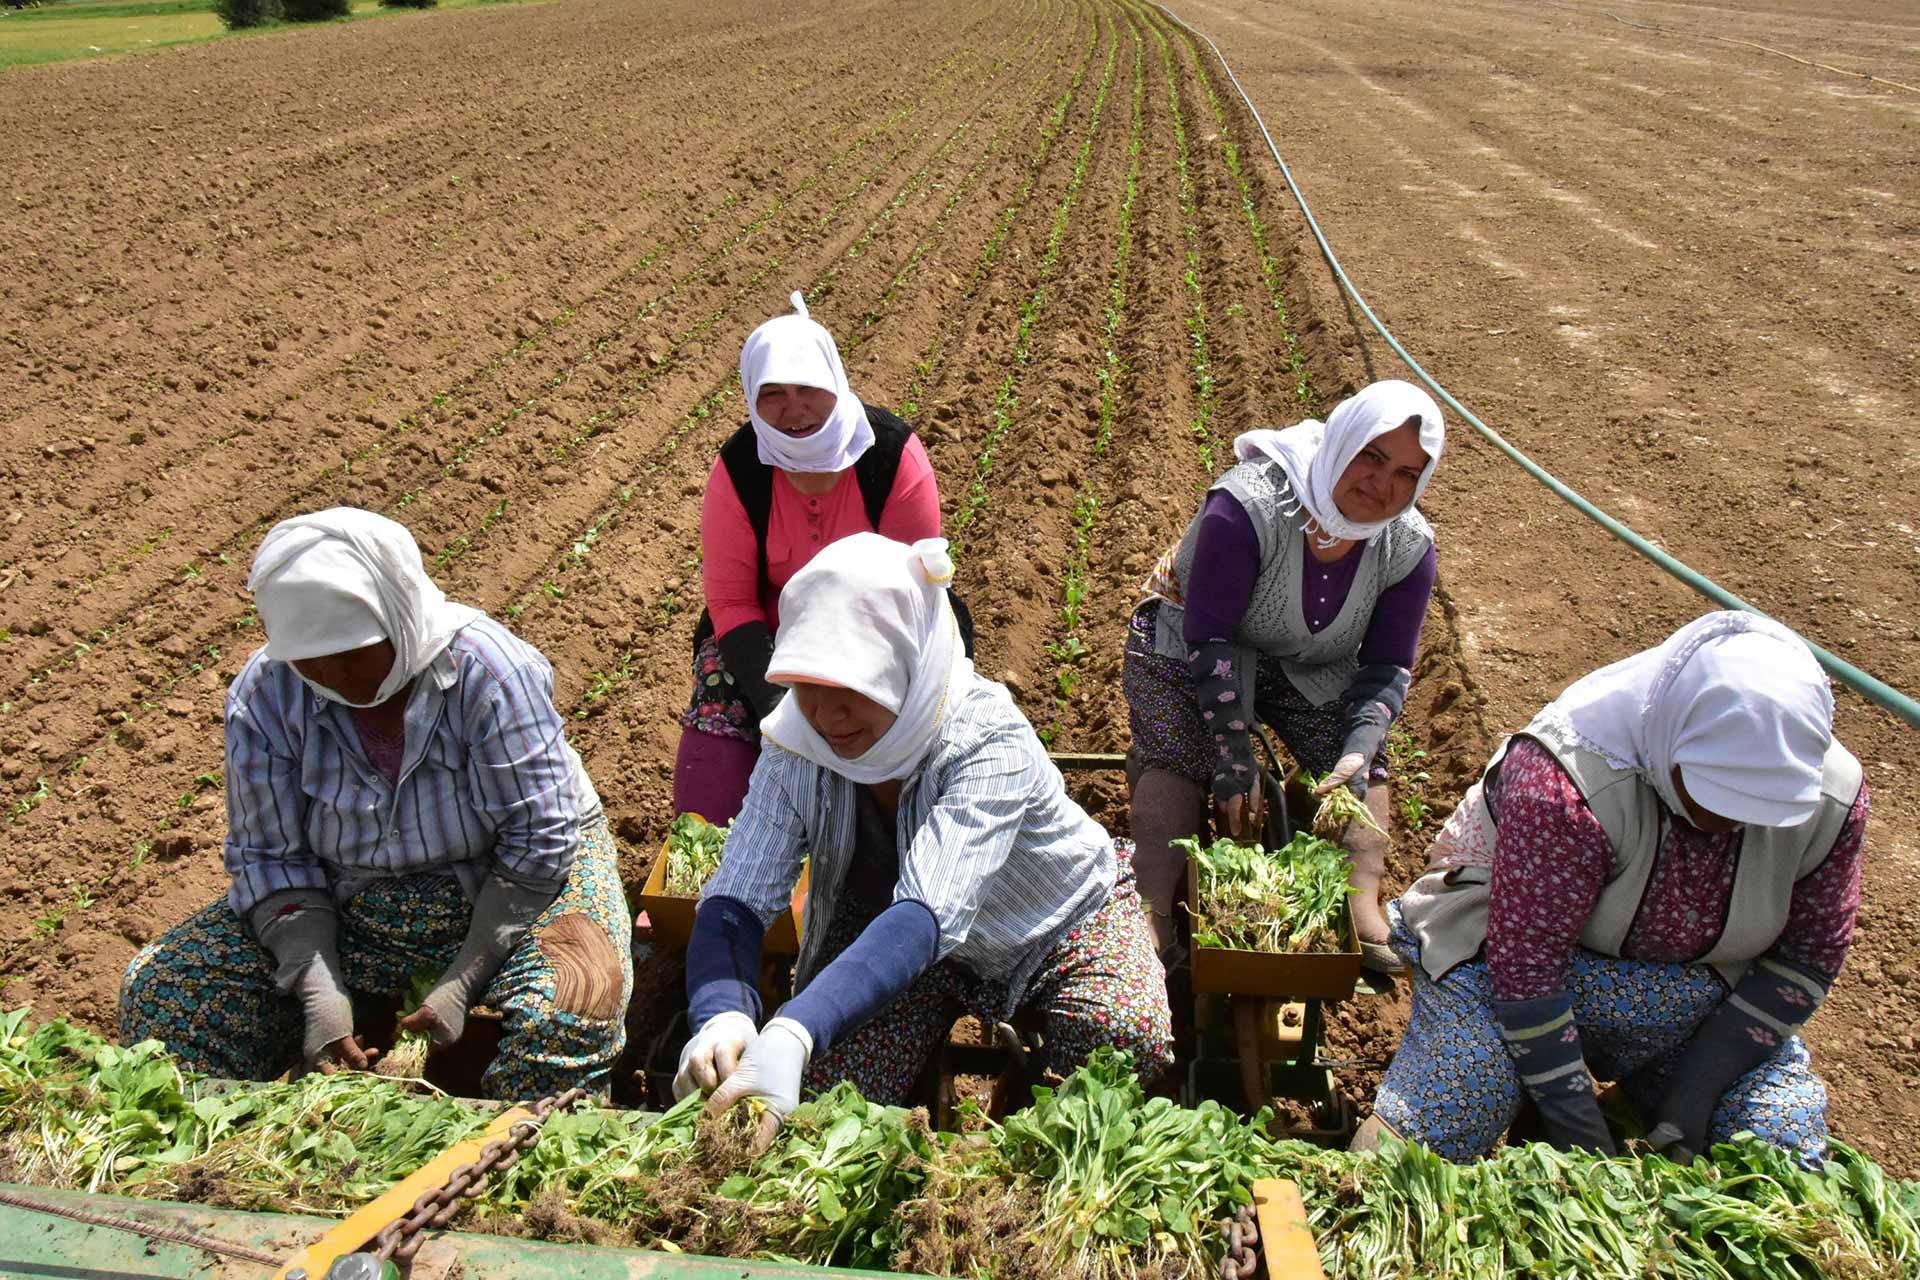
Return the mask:
[[1686,816],[1674,766],[1699,808],[1793,827],[1820,804],[1834,691],[1801,637],[1772,618],[1716,612],[1667,643],[1574,681],[1544,712],[1615,768],[1634,770]]

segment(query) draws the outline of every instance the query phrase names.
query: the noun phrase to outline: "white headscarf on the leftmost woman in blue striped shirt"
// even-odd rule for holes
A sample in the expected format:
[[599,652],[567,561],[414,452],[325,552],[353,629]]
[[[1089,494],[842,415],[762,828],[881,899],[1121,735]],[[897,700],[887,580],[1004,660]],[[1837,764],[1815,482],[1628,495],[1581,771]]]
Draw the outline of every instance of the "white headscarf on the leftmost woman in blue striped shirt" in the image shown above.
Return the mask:
[[[282,520],[267,532],[248,578],[276,662],[323,658],[392,641],[394,670],[378,706],[426,670],[480,610],[453,604],[426,576],[405,526],[357,507],[330,507]],[[301,676],[301,679],[305,679]],[[346,702],[332,689],[315,693]]]

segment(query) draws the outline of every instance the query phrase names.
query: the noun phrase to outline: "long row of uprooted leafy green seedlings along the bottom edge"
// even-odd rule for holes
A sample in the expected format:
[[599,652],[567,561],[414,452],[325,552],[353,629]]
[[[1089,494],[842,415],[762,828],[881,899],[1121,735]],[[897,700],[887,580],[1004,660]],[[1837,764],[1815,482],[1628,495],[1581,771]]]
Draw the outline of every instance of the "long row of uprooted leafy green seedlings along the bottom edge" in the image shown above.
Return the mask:
[[[365,1073],[209,1086],[154,1042],[0,1015],[0,1159],[12,1180],[344,1215],[490,1111]],[[1033,1105],[935,1134],[839,1084],[760,1150],[755,1107],[703,1119],[580,1109],[499,1171],[467,1226],[808,1265],[1119,1280],[1215,1272],[1221,1219],[1258,1178],[1300,1184],[1332,1280],[1853,1280],[1910,1276],[1920,1184],[1834,1142],[1820,1169],[1751,1136],[1680,1167],[1511,1146],[1453,1165],[1419,1146],[1329,1151],[1267,1113],[1146,1098],[1108,1048]]]

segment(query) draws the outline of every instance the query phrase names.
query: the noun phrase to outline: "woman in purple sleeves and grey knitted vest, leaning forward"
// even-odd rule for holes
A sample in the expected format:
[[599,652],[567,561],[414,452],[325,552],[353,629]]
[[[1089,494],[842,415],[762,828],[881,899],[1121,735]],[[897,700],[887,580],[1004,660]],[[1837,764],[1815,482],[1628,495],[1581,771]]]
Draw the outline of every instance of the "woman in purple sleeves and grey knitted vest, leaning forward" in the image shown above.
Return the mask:
[[1365,963],[1394,971],[1380,915],[1390,804],[1386,729],[1400,714],[1432,595],[1434,535],[1413,503],[1440,464],[1440,407],[1375,382],[1327,422],[1248,432],[1133,614],[1123,683],[1140,896],[1162,956],[1185,864],[1206,825],[1258,837],[1254,722],[1319,791],[1350,787],[1380,831],[1350,823],[1354,923]]

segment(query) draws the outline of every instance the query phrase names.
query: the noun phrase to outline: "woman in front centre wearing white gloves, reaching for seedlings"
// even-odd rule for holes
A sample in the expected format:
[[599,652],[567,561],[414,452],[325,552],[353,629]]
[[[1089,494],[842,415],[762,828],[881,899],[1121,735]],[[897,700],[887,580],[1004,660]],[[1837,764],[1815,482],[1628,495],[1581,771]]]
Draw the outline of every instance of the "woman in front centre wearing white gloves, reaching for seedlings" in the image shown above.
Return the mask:
[[[714,1107],[852,1080],[900,1102],[970,1007],[1037,1009],[1044,1065],[1114,1044],[1171,1061],[1165,975],[1123,844],[1071,798],[1006,689],[981,679],[947,599],[943,539],[854,533],[780,597],[766,718],[687,946],[693,1040],[674,1090]],[[812,854],[799,994],[764,1027],[760,935]]]

